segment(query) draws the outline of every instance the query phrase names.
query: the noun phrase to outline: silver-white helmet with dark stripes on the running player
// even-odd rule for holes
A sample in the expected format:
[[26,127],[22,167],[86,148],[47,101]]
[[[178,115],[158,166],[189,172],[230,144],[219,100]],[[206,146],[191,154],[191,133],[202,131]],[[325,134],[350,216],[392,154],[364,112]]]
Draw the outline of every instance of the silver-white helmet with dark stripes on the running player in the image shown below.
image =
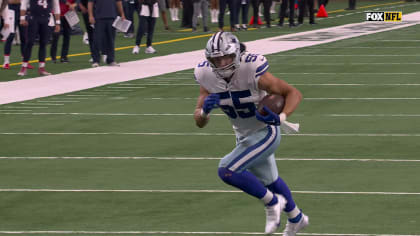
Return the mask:
[[[206,58],[218,78],[230,78],[239,69],[241,51],[238,38],[230,32],[217,32],[211,36],[206,46]],[[212,58],[232,55],[231,64],[218,68]]]

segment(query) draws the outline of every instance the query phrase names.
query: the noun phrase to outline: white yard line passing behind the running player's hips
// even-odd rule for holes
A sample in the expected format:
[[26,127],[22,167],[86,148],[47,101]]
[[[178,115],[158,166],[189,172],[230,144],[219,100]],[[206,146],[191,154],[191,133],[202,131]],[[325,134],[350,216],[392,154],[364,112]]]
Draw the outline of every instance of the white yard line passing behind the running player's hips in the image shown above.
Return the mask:
[[[68,132],[68,133],[61,133],[61,132],[45,132],[45,133],[30,133],[30,132],[2,132],[0,135],[49,135],[49,136],[64,136],[64,135],[144,135],[144,136],[234,136],[233,133],[159,133],[159,132]],[[307,134],[282,134],[283,136],[306,136],[306,137],[420,137],[420,134],[413,133],[413,134],[404,134],[404,133],[307,133]]]

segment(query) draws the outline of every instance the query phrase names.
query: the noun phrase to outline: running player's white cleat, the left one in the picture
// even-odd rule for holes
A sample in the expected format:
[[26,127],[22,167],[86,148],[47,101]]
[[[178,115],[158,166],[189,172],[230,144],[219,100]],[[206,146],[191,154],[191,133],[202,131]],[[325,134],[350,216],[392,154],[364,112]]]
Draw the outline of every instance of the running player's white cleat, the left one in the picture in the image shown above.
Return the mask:
[[280,215],[283,209],[286,207],[286,199],[276,194],[278,202],[273,206],[266,206],[265,207],[265,216],[266,216],[266,223],[265,223],[265,233],[272,234],[277,231],[280,226]]

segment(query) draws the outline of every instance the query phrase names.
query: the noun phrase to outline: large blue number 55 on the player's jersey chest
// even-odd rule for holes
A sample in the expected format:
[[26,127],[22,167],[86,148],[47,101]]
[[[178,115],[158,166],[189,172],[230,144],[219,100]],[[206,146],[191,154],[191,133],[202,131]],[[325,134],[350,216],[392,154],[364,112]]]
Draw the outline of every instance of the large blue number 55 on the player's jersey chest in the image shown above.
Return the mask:
[[255,116],[255,104],[253,102],[241,103],[240,98],[246,98],[251,96],[251,91],[234,91],[234,92],[223,92],[219,93],[220,99],[232,98],[233,107],[229,105],[220,105],[226,115],[232,119],[236,119],[238,116],[241,118],[249,118]]

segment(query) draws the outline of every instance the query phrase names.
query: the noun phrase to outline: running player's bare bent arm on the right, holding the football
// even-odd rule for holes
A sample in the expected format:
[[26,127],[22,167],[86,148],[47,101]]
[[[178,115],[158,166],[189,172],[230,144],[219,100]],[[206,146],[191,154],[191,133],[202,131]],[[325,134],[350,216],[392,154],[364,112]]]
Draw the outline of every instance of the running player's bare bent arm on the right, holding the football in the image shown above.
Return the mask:
[[267,91],[269,94],[278,94],[285,98],[286,104],[284,105],[282,113],[284,113],[287,117],[296,110],[302,100],[302,94],[299,90],[288,84],[286,81],[275,77],[270,72],[265,72],[261,75],[258,81],[258,87]]

